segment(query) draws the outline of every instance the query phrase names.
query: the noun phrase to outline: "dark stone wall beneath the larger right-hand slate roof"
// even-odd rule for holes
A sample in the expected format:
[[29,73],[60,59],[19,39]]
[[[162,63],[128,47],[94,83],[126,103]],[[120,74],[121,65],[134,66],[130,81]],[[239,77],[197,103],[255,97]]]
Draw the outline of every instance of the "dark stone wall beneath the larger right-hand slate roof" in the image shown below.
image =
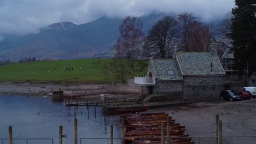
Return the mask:
[[224,76],[187,76],[183,98],[187,100],[218,99],[224,87]]

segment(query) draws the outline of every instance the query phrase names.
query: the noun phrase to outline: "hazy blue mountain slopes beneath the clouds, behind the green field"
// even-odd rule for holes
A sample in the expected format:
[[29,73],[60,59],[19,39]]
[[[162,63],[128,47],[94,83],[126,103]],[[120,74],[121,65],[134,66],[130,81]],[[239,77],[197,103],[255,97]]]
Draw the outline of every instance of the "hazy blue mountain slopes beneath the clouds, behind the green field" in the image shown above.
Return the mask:
[[[165,14],[141,16],[143,31],[147,31]],[[0,41],[0,61],[19,61],[26,57],[36,59],[75,59],[113,57],[113,45],[119,37],[119,25],[123,19],[100,17],[75,25],[58,22],[39,29],[37,34],[4,35]]]

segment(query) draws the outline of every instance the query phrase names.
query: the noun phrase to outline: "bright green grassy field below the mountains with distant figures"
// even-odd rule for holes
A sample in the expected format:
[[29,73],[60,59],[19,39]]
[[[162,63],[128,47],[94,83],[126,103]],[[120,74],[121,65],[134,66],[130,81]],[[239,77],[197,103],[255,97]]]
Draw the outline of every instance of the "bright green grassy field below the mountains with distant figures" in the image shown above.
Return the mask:
[[[0,66],[0,82],[121,82],[115,78],[113,59],[39,61]],[[148,63],[148,61],[145,63]],[[63,70],[64,68],[73,70]],[[79,67],[82,69],[79,70]],[[146,75],[146,69],[139,76]],[[130,77],[127,77],[131,79]]]

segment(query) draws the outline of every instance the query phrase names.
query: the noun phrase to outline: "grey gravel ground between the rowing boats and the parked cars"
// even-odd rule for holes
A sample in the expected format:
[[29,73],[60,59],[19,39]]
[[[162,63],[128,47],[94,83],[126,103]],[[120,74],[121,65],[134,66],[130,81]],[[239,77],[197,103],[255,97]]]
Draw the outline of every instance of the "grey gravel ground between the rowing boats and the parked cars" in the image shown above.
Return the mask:
[[195,143],[216,143],[215,137],[207,137],[216,135],[216,115],[222,121],[223,143],[256,143],[256,99],[203,101],[148,112],[157,111],[166,111],[177,123],[185,125],[185,133],[193,137]]

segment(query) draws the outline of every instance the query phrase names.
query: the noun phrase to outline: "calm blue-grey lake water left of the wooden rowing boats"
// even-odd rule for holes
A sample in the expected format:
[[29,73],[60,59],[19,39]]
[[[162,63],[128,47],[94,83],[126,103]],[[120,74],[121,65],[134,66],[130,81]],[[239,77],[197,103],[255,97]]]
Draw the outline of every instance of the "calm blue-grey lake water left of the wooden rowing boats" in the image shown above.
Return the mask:
[[[74,143],[74,106],[68,108],[65,102],[53,103],[51,97],[26,95],[0,95],[0,144],[8,143],[9,126],[13,127],[13,139],[54,139],[59,143],[59,125],[63,125],[63,144]],[[109,138],[110,125],[114,137],[121,137],[120,116],[104,116],[102,108],[79,106],[78,143],[81,138]],[[89,111],[89,112],[88,112]],[[82,112],[82,113],[81,113]],[[88,115],[89,114],[89,115]],[[13,140],[14,144],[26,140]],[[28,140],[28,143],[47,144],[52,140]],[[82,143],[108,143],[107,139],[82,140]],[[110,140],[109,140],[110,143]],[[120,140],[114,139],[114,143]]]

